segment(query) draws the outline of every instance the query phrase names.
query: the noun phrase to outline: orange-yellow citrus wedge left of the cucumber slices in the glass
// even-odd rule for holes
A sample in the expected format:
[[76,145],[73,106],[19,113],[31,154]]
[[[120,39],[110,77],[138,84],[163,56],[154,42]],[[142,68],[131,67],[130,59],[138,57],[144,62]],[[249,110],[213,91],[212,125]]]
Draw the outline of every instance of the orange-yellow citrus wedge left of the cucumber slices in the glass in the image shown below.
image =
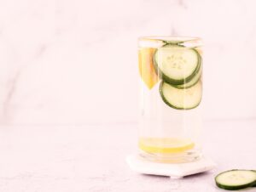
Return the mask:
[[158,76],[154,71],[154,56],[155,48],[140,48],[138,54],[139,72],[143,82],[149,89],[153,88],[158,82]]

